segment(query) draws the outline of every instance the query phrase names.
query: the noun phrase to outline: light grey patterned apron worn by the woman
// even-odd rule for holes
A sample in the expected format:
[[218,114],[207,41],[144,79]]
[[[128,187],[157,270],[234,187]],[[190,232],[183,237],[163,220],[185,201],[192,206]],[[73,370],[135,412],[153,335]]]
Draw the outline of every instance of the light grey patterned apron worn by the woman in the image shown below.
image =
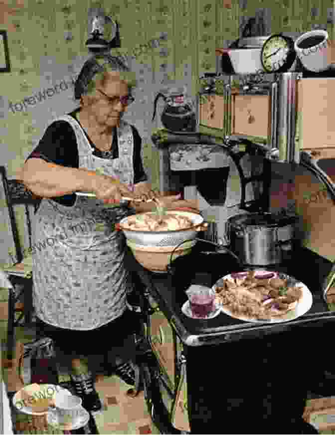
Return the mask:
[[[134,139],[121,120],[119,158],[93,155],[81,126],[65,115],[76,134],[79,167],[134,182]],[[134,211],[133,211],[134,212]],[[122,206],[106,208],[95,198],[76,196],[72,207],[43,198],[33,228],[33,304],[36,316],[60,328],[95,329],[120,317],[132,289],[124,267],[125,237],[113,224],[132,214]]]

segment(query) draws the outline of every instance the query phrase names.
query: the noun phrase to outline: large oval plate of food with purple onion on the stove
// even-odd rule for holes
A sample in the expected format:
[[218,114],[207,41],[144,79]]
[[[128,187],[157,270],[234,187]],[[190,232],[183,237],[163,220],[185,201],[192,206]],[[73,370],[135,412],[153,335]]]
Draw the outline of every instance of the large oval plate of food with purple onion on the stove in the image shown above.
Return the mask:
[[278,272],[229,274],[213,290],[222,312],[247,322],[287,322],[306,314],[313,304],[305,284]]

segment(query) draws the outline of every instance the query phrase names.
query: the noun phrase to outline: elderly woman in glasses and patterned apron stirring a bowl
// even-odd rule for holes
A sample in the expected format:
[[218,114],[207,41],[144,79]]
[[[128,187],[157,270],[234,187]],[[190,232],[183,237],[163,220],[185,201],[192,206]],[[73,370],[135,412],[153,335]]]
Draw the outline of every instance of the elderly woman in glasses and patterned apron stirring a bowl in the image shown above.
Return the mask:
[[[42,198],[32,251],[37,321],[70,355],[76,394],[91,411],[101,403],[83,356],[115,350],[114,372],[134,384],[135,321],[126,305],[133,281],[124,264],[124,235],[113,224],[153,207],[121,201],[154,196],[143,169],[141,138],[122,120],[133,101],[127,73],[127,66],[110,55],[86,61],[75,84],[80,107],[48,126],[20,174]],[[185,205],[177,199],[163,202],[167,208]]]

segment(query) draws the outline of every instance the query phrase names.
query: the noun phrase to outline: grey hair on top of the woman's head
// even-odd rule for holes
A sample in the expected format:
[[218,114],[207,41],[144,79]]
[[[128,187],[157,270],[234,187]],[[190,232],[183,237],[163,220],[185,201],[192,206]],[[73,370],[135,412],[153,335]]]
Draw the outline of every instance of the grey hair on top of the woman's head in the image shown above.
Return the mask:
[[[124,59],[117,56],[112,56],[110,54],[96,55],[88,59],[75,82],[74,85],[74,98],[80,100],[82,95],[90,95],[95,91],[97,81],[102,81],[106,79],[106,75],[109,72],[118,71],[121,73],[130,73],[130,69],[127,66]],[[131,73],[130,73],[131,74]],[[126,74],[125,77],[128,86],[134,87],[135,80],[129,79],[129,75]],[[123,77],[122,77],[123,78]]]

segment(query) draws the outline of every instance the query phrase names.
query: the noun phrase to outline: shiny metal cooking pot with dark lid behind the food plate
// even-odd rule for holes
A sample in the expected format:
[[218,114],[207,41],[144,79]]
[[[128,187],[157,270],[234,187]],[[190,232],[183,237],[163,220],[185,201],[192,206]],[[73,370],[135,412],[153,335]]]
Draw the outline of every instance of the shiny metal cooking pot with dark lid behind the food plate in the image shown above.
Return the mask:
[[233,216],[226,223],[230,249],[244,265],[280,264],[283,261],[283,251],[292,251],[298,220],[298,216],[286,213]]

